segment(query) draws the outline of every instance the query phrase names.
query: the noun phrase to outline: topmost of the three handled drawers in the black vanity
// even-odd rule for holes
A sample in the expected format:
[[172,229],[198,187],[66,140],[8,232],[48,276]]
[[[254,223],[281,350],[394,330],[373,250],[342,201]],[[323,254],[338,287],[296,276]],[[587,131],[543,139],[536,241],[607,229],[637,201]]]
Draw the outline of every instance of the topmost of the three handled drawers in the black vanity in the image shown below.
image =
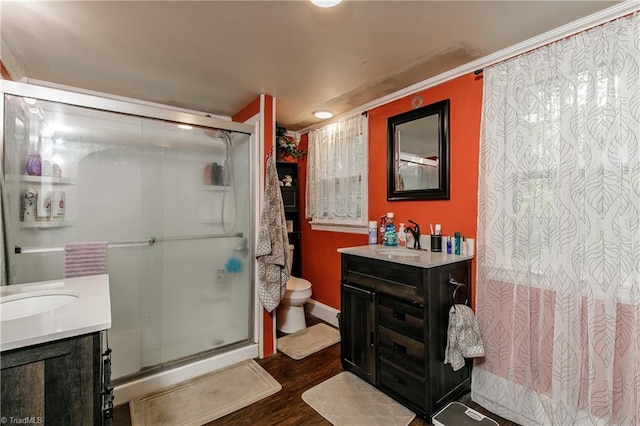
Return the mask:
[[387,328],[424,342],[424,307],[380,295],[378,321]]

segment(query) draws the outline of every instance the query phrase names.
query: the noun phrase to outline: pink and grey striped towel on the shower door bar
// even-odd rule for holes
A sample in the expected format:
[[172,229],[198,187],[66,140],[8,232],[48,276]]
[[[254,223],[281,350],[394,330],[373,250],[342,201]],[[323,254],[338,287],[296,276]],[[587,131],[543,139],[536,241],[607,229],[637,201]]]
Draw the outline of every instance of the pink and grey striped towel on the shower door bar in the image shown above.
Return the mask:
[[86,277],[107,273],[107,242],[64,245],[64,277]]

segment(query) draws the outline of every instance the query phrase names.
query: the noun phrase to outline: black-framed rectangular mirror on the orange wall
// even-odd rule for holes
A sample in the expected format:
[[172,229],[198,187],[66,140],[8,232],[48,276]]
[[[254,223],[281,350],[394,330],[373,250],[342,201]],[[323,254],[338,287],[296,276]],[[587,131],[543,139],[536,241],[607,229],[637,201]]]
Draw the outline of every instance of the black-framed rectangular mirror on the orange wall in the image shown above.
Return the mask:
[[449,199],[449,99],[387,119],[387,200]]

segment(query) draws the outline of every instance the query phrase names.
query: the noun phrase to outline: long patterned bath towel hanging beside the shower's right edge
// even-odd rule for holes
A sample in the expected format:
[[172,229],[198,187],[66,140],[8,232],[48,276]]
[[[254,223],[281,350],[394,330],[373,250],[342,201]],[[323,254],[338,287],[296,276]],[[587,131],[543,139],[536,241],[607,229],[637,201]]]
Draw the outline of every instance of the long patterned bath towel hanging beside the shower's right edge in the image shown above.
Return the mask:
[[289,237],[276,160],[267,159],[267,179],[258,231],[258,295],[267,312],[280,304],[289,280]]

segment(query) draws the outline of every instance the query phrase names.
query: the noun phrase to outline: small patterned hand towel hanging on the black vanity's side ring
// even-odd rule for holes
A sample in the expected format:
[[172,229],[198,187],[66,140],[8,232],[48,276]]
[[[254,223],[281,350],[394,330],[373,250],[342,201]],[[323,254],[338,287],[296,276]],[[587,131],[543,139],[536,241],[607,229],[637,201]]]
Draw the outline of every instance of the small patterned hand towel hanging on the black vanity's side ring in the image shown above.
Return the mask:
[[467,305],[453,305],[449,310],[449,329],[444,363],[453,371],[464,367],[464,358],[484,356],[480,328],[473,310]]

